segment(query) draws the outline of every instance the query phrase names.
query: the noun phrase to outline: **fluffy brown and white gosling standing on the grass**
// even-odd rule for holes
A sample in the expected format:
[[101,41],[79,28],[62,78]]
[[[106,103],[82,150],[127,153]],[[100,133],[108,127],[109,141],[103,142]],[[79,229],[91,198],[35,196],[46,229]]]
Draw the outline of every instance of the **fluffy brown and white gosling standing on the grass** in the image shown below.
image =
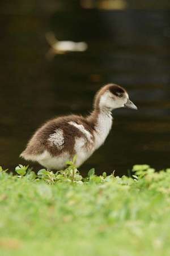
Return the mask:
[[137,110],[124,88],[105,85],[96,93],[90,115],[49,120],[37,129],[20,156],[47,169],[61,170],[76,154],[76,167],[79,167],[104,143],[112,127],[112,110],[121,107]]

